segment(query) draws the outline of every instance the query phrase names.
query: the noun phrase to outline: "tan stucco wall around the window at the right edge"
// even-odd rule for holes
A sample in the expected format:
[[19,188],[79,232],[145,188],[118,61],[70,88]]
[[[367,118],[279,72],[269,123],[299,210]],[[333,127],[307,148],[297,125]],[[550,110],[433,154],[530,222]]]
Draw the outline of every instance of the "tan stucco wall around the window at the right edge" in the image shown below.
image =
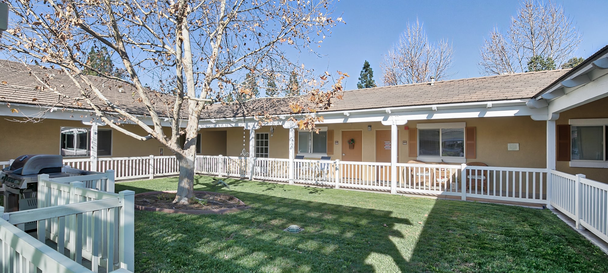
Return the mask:
[[[568,120],[577,118],[608,118],[608,98],[598,99],[591,103],[559,113],[559,119],[555,124],[568,124]],[[568,174],[584,174],[587,178],[608,183],[608,169],[570,167],[568,161],[557,161],[556,169]]]

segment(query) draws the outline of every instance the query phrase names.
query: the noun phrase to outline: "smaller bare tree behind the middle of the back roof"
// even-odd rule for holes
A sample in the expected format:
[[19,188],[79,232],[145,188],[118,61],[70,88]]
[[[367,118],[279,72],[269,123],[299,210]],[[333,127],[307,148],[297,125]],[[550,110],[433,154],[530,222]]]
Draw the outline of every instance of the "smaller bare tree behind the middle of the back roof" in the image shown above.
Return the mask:
[[430,76],[437,80],[452,74],[452,45],[446,40],[430,44],[423,24],[407,24],[406,30],[399,37],[399,42],[384,55],[381,63],[382,84],[423,83]]

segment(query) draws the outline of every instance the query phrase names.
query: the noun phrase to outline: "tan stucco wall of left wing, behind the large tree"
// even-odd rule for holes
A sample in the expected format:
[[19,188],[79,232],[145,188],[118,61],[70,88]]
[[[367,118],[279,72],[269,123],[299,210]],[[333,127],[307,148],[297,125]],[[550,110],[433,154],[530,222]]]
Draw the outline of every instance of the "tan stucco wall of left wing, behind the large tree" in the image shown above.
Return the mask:
[[[32,153],[60,153],[60,128],[83,127],[80,121],[45,119],[38,123],[19,123],[9,121],[12,118],[0,116],[0,161],[8,161],[19,155]],[[147,135],[139,126],[125,124],[123,127],[138,135]],[[100,126],[100,129],[110,129],[109,126]],[[170,134],[170,128],[165,128],[165,133]],[[202,153],[218,155],[226,153],[227,139],[224,132],[214,132],[202,135]],[[241,140],[242,141],[242,140]],[[112,130],[112,155],[111,157],[147,157],[148,155],[159,155],[159,148],[163,147],[157,140],[140,141],[125,135],[117,130]],[[164,155],[173,155],[165,149]],[[66,157],[67,158],[67,157]],[[78,158],[78,157],[69,157]]]

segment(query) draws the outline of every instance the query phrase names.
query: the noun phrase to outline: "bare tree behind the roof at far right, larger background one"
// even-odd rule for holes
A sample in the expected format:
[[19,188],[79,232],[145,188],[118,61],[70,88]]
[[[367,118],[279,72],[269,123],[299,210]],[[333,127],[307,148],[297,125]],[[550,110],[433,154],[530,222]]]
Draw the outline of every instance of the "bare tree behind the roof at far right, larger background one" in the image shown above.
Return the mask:
[[551,59],[559,67],[581,41],[582,35],[561,5],[525,0],[517,16],[511,17],[506,35],[492,30],[480,50],[478,66],[488,75],[525,72],[532,59]]

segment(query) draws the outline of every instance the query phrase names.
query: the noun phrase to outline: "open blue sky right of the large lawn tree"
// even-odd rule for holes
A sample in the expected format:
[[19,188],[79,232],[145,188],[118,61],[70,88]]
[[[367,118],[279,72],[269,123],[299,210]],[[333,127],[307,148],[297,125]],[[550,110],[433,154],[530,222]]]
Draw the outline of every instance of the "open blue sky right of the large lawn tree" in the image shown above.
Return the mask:
[[[608,1],[558,1],[582,32],[577,55],[588,56],[608,44]],[[336,12],[347,22],[334,28],[317,53],[322,58],[303,53],[299,58],[306,67],[317,71],[340,70],[350,75],[346,89],[356,89],[359,72],[367,59],[376,83],[381,83],[382,56],[398,40],[408,21],[424,23],[429,41],[447,38],[454,46],[452,78],[481,76],[477,62],[483,38],[497,25],[506,30],[520,1],[365,1],[342,0]]]

